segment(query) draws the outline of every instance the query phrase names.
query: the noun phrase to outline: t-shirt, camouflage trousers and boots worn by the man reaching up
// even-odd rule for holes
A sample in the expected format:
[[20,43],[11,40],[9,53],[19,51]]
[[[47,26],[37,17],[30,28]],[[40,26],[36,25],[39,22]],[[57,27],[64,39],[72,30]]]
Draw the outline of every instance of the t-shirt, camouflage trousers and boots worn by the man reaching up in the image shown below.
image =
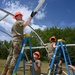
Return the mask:
[[12,75],[13,69],[15,67],[22,46],[24,29],[22,24],[22,20],[16,21],[12,27],[12,33],[14,36],[12,39],[12,46],[1,75]]

